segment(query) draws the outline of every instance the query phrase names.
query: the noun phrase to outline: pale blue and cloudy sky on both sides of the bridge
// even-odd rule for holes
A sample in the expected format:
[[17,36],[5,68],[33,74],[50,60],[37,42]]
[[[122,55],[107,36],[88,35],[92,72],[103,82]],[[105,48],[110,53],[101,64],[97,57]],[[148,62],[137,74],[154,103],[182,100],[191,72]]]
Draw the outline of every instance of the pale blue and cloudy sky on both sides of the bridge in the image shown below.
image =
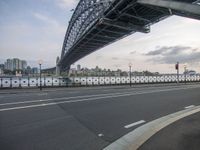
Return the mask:
[[[20,58],[37,66],[54,67],[78,0],[0,0],[0,63]],[[200,21],[178,16],[151,26],[148,34],[135,33],[102,48],[72,67],[149,70],[175,73],[186,65],[200,72]]]

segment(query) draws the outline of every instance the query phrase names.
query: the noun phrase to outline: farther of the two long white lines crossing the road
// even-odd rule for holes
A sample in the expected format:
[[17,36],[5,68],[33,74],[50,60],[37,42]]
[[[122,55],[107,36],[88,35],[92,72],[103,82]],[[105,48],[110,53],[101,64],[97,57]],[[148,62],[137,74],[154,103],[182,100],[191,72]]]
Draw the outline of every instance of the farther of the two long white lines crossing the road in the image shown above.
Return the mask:
[[[182,90],[182,89],[191,89],[191,88],[198,88],[198,86],[194,87],[182,87],[182,88],[170,88],[170,89],[163,89],[163,90],[154,90],[154,91],[146,91],[142,92],[142,94],[145,93],[154,93],[154,92],[164,92],[164,91],[173,91],[173,90]],[[133,91],[132,91],[133,92]],[[17,104],[28,104],[28,103],[37,103],[37,102],[48,102],[48,101],[58,101],[58,100],[67,100],[67,99],[76,99],[76,98],[90,98],[95,96],[106,96],[106,95],[116,95],[116,94],[129,94],[132,92],[117,92],[117,93],[108,93],[108,94],[96,94],[96,95],[82,95],[82,96],[74,96],[74,97],[61,97],[61,98],[50,98],[50,99],[40,99],[40,100],[30,100],[30,101],[19,101],[19,102],[9,102],[9,103],[0,103],[0,106],[6,106],[6,105],[17,105]],[[141,91],[136,91],[134,94],[140,94]]]

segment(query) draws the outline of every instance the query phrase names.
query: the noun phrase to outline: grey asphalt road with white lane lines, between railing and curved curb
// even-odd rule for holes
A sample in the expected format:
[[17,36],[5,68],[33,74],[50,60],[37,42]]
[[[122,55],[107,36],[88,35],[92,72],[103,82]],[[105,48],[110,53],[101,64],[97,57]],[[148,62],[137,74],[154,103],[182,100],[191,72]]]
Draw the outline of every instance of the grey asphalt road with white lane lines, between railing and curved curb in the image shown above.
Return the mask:
[[140,125],[200,105],[200,85],[0,91],[0,149],[100,150]]

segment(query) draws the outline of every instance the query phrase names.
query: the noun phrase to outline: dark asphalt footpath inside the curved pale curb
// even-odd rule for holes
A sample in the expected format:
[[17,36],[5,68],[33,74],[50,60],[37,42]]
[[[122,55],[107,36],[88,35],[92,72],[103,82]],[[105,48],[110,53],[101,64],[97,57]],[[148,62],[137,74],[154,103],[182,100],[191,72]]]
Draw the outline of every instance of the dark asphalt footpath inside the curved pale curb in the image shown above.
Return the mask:
[[200,150],[200,112],[162,129],[138,150]]

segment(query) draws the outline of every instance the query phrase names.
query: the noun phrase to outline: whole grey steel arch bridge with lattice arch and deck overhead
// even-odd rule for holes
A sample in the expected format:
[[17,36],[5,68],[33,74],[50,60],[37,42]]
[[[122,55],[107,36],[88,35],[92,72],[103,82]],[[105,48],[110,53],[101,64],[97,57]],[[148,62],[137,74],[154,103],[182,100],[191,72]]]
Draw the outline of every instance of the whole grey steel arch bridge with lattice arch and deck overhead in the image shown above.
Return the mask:
[[200,0],[80,0],[57,66],[68,70],[84,56],[171,15],[200,19]]

